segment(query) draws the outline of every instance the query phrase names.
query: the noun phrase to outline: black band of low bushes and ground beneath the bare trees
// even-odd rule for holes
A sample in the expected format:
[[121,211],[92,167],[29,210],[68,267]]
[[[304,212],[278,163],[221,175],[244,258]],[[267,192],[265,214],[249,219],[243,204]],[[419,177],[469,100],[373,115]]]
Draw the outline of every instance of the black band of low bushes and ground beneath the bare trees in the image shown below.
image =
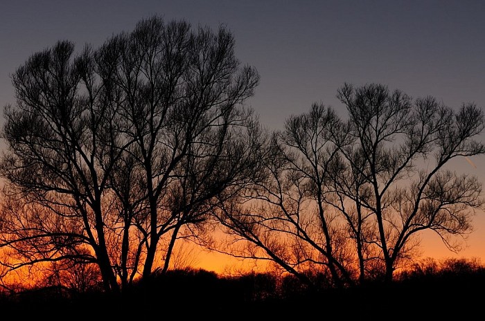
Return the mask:
[[[1,296],[4,316],[46,316],[50,320],[142,317],[159,306],[167,318],[310,318],[325,310],[339,319],[470,318],[481,309],[485,266],[473,260],[429,260],[400,273],[392,284],[306,291],[294,277],[249,273],[222,277],[207,270],[170,270],[136,283],[123,295],[103,291],[69,293],[55,287]],[[125,309],[129,304],[131,309]],[[157,313],[151,310],[150,313]],[[84,315],[84,316],[83,316]],[[161,317],[160,315],[160,317]]]

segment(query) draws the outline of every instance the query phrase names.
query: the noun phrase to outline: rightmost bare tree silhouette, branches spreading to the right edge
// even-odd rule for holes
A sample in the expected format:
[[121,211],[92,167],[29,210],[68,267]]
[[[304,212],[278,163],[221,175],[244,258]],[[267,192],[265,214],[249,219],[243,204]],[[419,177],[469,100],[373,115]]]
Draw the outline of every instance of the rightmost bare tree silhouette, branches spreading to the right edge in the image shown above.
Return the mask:
[[[360,208],[357,221],[369,223],[367,235],[354,234],[362,248],[373,247],[369,254],[382,262],[385,279],[413,257],[422,230],[436,232],[450,250],[459,250],[453,237],[472,230],[473,210],[483,205],[482,184],[446,165],[484,154],[477,140],[485,127],[483,111],[471,103],[455,111],[432,97],[412,100],[381,84],[345,84],[337,97],[349,111],[355,138],[352,147],[341,149],[351,170],[337,178],[337,194]],[[340,210],[346,209],[341,203]]]

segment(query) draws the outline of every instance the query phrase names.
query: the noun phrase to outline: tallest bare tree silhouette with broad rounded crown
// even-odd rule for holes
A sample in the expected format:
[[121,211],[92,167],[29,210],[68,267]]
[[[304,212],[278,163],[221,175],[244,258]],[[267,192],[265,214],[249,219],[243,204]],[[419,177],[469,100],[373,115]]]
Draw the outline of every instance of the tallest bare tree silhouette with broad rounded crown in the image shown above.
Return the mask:
[[195,236],[211,199],[243,185],[257,169],[260,129],[252,110],[241,107],[253,95],[258,73],[240,66],[226,28],[190,31],[184,21],[165,24],[154,17],[133,33],[109,39],[99,52],[103,79],[125,124],[123,135],[133,142],[125,149],[132,171],[118,168],[136,173],[138,183],[112,188],[123,203],[142,205],[133,225],[141,236],[145,278],[161,239],[167,244],[166,270],[175,240]]

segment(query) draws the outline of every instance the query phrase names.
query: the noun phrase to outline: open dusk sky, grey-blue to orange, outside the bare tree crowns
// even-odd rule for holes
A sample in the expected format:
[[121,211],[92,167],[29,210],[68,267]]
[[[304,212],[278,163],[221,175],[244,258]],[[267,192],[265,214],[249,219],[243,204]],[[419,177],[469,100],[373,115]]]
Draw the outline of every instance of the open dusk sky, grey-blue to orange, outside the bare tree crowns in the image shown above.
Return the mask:
[[[0,104],[15,103],[10,74],[29,55],[61,39],[95,47],[152,15],[193,26],[224,24],[236,55],[261,74],[248,102],[270,129],[291,114],[335,98],[344,82],[433,95],[450,107],[485,108],[485,1],[2,1]],[[2,118],[0,117],[0,120]],[[485,138],[485,137],[484,137]],[[485,156],[459,169],[485,182]],[[455,255],[424,235],[423,255],[478,257],[485,262],[485,213],[475,217],[468,248]],[[210,262],[202,262],[210,264]]]

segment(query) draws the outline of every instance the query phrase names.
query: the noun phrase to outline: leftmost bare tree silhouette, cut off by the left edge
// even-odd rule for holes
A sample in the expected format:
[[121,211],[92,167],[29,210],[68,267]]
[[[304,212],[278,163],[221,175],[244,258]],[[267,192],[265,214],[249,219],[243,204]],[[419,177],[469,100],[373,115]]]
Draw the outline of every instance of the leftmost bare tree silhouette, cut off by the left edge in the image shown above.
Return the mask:
[[[21,202],[19,208],[24,209],[25,217],[6,208],[3,228],[9,226],[10,219],[19,225],[16,231],[10,228],[12,233],[3,233],[6,240],[2,246],[15,244],[28,259],[16,264],[23,266],[69,257],[72,254],[59,249],[89,244],[105,288],[116,291],[103,210],[109,171],[119,154],[112,144],[116,142],[116,118],[107,104],[97,100],[100,86],[91,79],[94,66],[89,48],[76,58],[73,52],[73,44],[58,42],[31,56],[12,75],[17,108],[5,109],[2,137],[8,152],[3,155],[0,172],[6,178],[7,196]],[[22,203],[42,205],[45,210],[25,208]],[[53,217],[39,219],[46,212]],[[24,222],[33,226],[27,228]],[[39,244],[42,250],[37,248]]]

